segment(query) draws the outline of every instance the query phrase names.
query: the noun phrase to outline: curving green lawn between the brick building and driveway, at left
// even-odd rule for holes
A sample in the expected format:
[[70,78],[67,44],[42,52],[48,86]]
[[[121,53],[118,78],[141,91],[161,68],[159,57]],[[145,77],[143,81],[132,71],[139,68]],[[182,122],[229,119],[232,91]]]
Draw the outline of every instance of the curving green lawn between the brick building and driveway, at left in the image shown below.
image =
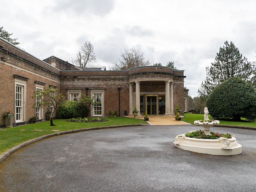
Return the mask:
[[[56,126],[50,126],[49,121],[40,122],[36,124],[28,124],[13,128],[0,129],[0,154],[8,149],[39,136],[54,133],[52,130],[75,130],[91,127],[103,127],[112,125],[127,125],[127,124],[147,124],[144,120],[135,118],[115,117],[115,118],[103,118],[108,121],[105,122],[92,122],[92,123],[80,123],[80,122],[67,122],[64,119],[54,120]],[[42,130],[36,131],[35,129]]]

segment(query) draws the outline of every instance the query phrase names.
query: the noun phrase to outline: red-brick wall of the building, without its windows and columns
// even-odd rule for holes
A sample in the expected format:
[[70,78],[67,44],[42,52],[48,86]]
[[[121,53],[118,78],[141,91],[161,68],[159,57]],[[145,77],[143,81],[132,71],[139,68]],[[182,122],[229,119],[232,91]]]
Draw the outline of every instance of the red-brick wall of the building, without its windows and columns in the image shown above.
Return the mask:
[[[1,57],[8,57],[10,60]],[[173,78],[174,110],[179,105],[182,110],[181,114],[183,114],[184,71],[182,70],[173,71],[166,67],[145,67],[134,68],[129,71],[60,72],[3,40],[0,40],[0,60],[2,60],[0,62],[0,126],[5,124],[4,113],[8,110],[14,112],[14,74],[29,78],[26,82],[26,121],[35,115],[35,109],[32,108],[35,99],[31,98],[36,89],[34,81],[45,83],[44,88],[48,88],[50,84],[54,85],[64,94],[67,94],[66,88],[82,88],[84,94],[86,94],[86,87],[90,89],[104,88],[104,116],[108,116],[110,110],[115,110],[118,113],[118,86],[120,86],[120,115],[122,116],[124,110],[127,110],[127,113],[129,112],[128,81],[152,78],[152,82],[140,83],[140,92],[165,92],[164,81],[156,82],[154,78]],[[90,89],[88,90],[88,96],[91,95]]]

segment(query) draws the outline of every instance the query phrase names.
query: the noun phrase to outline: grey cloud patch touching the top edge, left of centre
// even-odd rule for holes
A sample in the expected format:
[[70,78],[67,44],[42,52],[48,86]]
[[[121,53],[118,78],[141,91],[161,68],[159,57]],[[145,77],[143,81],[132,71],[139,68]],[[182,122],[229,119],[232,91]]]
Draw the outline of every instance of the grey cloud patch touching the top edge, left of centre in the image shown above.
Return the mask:
[[114,0],[56,0],[52,11],[104,16],[114,9]]

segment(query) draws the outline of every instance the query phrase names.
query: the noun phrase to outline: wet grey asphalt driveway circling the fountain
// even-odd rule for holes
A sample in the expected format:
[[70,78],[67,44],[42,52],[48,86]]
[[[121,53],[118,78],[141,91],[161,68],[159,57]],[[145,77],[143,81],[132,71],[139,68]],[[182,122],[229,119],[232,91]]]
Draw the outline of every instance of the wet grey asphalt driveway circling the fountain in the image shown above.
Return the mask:
[[0,165],[0,191],[256,191],[256,130],[234,134],[242,154],[213,156],[176,148],[175,136],[196,126],[136,126],[48,138]]

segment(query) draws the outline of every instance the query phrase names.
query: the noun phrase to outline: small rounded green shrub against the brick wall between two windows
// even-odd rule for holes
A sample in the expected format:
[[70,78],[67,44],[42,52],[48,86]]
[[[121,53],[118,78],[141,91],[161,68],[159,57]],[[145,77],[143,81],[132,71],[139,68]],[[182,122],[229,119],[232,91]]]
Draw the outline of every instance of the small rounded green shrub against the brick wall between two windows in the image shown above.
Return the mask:
[[64,101],[59,106],[58,117],[62,119],[80,117],[79,103],[77,101]]

